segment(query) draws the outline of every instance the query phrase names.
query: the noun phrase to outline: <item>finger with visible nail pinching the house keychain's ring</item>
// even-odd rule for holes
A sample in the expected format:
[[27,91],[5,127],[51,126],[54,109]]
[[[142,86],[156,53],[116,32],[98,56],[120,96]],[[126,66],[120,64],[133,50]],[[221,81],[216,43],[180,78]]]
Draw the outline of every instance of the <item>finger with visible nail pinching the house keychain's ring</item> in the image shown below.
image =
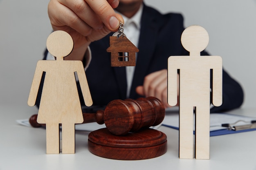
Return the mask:
[[119,28],[120,19],[116,15],[114,9],[109,4],[115,4],[117,2],[108,0],[86,0],[92,10],[99,16],[102,22],[111,31],[116,31]]

